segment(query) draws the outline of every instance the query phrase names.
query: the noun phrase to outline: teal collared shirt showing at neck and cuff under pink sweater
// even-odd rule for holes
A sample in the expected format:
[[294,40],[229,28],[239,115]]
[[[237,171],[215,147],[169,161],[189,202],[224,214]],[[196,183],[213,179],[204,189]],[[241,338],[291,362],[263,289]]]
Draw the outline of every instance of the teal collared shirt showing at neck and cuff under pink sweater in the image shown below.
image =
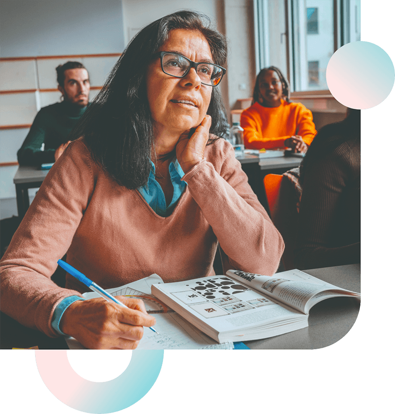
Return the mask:
[[[166,206],[166,200],[164,198],[162,187],[155,179],[155,165],[152,161],[151,165],[153,169],[150,172],[147,185],[139,187],[137,190],[144,197],[145,201],[147,201],[147,204],[155,211],[155,213],[158,214],[158,216],[167,217],[172,213],[175,205],[181,197],[182,192],[187,186],[185,181],[181,181],[184,176],[184,171],[178,163],[177,158],[174,157],[169,165],[170,179],[173,184],[173,198],[171,199],[170,204]],[[55,331],[61,335],[64,335],[64,333],[59,328],[60,319],[62,318],[65,310],[76,300],[85,299],[82,299],[79,296],[70,296],[63,299],[55,309],[51,325]]]

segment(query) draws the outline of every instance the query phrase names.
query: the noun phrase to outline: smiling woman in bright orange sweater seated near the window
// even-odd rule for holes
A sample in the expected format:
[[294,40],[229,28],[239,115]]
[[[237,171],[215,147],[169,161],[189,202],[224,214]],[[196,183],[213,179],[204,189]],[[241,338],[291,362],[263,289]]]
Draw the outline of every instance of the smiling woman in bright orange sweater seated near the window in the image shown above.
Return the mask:
[[253,104],[242,112],[240,126],[249,149],[290,147],[306,152],[316,136],[311,111],[289,100],[288,82],[275,66],[259,72]]

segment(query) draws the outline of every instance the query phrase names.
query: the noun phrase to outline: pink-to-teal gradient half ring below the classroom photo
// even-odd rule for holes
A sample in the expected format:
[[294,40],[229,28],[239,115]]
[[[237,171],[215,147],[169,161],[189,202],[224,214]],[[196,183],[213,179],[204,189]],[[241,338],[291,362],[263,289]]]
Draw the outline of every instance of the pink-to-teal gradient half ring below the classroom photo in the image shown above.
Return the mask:
[[134,350],[127,368],[105,382],[82,378],[71,366],[67,350],[37,350],[35,355],[42,381],[59,401],[82,413],[107,414],[132,406],[150,391],[162,368],[164,351]]

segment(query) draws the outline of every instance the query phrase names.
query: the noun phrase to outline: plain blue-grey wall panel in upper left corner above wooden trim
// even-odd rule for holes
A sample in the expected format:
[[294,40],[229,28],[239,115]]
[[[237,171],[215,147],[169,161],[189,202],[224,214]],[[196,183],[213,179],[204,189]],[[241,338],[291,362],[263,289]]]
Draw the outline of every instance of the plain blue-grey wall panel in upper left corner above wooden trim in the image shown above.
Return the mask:
[[121,0],[1,0],[0,57],[123,50]]

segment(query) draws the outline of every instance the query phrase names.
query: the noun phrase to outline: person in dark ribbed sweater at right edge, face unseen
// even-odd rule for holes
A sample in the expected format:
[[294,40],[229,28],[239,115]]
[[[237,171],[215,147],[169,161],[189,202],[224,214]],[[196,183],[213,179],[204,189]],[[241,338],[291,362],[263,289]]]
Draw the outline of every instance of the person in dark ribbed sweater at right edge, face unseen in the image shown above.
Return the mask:
[[303,188],[294,264],[315,269],[360,263],[360,111],[324,126],[300,168]]

